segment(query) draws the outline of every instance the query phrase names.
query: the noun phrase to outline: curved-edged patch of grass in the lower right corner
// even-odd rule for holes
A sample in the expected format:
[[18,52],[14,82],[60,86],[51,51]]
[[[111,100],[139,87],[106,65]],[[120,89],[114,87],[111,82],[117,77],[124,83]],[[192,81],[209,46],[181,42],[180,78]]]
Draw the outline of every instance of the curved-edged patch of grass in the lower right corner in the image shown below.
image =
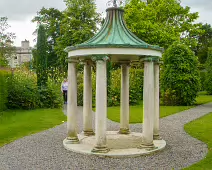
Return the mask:
[[202,161],[186,169],[212,169],[212,113],[185,125],[185,131],[208,145],[208,154]]

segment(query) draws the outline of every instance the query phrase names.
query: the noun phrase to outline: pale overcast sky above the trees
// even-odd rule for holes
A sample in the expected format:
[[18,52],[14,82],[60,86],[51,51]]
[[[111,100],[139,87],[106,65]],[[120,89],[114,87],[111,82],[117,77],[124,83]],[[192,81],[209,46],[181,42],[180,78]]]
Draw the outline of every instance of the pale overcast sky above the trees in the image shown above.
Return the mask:
[[[98,12],[106,10],[108,0],[96,0]],[[182,5],[190,6],[192,12],[199,12],[198,21],[212,25],[212,0],[181,0]],[[63,0],[0,0],[0,16],[7,16],[11,25],[10,31],[16,34],[15,45],[20,46],[22,40],[33,43],[32,32],[36,25],[31,22],[33,16],[42,7],[65,9]]]

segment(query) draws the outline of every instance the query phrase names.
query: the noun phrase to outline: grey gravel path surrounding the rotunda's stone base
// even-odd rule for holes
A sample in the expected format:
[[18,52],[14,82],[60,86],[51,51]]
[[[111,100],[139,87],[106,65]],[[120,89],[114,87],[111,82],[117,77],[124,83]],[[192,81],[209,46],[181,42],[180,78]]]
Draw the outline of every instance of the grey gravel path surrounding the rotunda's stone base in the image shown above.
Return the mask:
[[[181,169],[198,162],[207,154],[207,145],[187,135],[183,126],[209,112],[212,112],[212,103],[161,119],[161,136],[167,141],[166,149],[155,155],[137,158],[99,158],[67,151],[62,144],[66,137],[64,123],[0,148],[0,169]],[[78,115],[80,122],[82,108],[79,108]],[[119,125],[110,120],[107,125],[108,130],[119,129]],[[131,131],[141,132],[142,125],[131,125]]]

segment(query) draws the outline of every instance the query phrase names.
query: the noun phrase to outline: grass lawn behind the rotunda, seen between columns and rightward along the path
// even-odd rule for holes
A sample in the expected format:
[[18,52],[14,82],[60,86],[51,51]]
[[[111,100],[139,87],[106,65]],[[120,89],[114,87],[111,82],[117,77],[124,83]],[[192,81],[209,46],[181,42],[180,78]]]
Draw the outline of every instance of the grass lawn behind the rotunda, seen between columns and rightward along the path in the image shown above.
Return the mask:
[[[205,92],[201,92],[196,98],[196,104],[194,106],[161,106],[160,117],[166,117],[183,110],[188,110],[196,105],[212,102],[212,95],[206,95]],[[120,122],[120,107],[108,108],[108,119],[115,122]],[[142,123],[143,122],[143,105],[130,106],[130,123]]]

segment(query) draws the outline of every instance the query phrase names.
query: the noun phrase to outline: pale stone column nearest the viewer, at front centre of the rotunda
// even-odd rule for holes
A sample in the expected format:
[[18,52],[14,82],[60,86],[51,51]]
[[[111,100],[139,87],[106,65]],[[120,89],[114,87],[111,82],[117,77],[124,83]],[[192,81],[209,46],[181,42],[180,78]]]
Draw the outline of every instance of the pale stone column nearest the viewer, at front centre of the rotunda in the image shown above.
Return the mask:
[[107,66],[106,57],[96,59],[96,121],[95,137],[96,144],[92,152],[106,153],[107,148]]

